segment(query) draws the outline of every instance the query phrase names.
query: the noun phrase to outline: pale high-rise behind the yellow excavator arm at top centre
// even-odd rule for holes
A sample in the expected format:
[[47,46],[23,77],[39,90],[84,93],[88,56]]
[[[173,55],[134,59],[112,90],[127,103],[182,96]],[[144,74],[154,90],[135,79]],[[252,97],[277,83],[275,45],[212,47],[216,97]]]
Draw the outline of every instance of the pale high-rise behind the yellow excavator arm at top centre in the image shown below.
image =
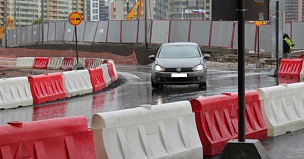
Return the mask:
[[[126,19],[128,11],[132,9],[136,0],[115,0],[114,1],[114,16],[116,20]],[[128,5],[129,4],[129,5]],[[166,17],[167,0],[147,0],[147,19],[164,19]],[[142,1],[140,19],[144,19],[145,1]],[[133,15],[133,20],[136,20],[137,10]]]

